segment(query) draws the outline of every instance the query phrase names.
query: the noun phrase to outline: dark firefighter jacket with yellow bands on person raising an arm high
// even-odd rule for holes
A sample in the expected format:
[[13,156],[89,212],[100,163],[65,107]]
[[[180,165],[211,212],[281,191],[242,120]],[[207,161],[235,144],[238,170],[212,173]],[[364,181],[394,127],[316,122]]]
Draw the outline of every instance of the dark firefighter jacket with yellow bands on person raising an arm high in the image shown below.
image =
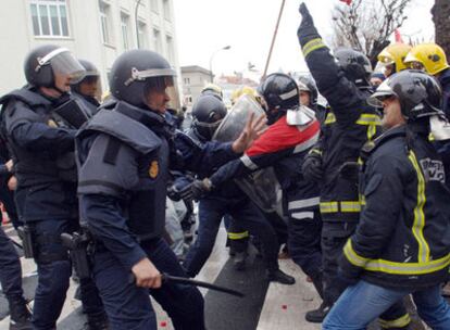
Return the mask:
[[299,41],[308,67],[330,111],[322,136],[311,152],[322,154],[321,214],[324,221],[357,221],[361,211],[358,180],[346,178],[345,163],[357,163],[361,148],[380,132],[378,112],[366,103],[371,92],[349,80],[315,27],[299,29]]

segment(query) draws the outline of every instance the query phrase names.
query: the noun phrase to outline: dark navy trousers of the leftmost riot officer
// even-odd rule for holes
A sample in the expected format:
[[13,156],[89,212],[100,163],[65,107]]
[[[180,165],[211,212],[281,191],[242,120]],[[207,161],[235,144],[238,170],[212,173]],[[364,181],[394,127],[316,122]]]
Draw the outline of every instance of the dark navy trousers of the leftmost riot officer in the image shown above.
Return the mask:
[[[62,245],[60,236],[63,232],[73,232],[78,226],[74,219],[41,220],[33,223],[30,226],[35,230],[38,245],[35,256],[38,266],[38,285],[33,309],[33,326],[36,330],[50,330],[54,329],[60,317],[72,275],[72,263],[68,259],[67,250]],[[92,289],[89,291],[89,285],[86,282],[80,283],[84,309],[92,314],[100,314],[103,310],[101,300],[96,294],[96,290],[93,294]],[[83,294],[86,291],[90,294]],[[89,296],[87,297],[87,295]]]

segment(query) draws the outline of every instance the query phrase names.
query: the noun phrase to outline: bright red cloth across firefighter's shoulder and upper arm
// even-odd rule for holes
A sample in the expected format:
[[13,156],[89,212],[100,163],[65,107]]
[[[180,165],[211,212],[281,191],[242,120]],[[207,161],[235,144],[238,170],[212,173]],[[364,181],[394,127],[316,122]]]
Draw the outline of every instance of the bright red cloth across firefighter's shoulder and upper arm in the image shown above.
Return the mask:
[[300,131],[297,126],[289,126],[286,123],[286,116],[282,117],[275,124],[271,125],[264,134],[253,142],[247,150],[248,156],[273,153],[288,148],[295,148],[307,142],[314,137],[321,126],[314,120],[310,126]]

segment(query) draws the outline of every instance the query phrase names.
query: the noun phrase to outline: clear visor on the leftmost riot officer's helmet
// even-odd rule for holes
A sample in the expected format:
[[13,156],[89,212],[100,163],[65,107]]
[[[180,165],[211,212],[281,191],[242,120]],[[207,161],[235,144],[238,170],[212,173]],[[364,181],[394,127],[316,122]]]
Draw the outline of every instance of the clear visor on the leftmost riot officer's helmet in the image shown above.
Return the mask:
[[[57,51],[58,50],[61,49],[57,49]],[[49,55],[51,55],[51,53]],[[61,76],[67,76],[70,84],[77,84],[85,77],[85,68],[68,50],[61,51],[51,56],[49,63],[53,73]]]

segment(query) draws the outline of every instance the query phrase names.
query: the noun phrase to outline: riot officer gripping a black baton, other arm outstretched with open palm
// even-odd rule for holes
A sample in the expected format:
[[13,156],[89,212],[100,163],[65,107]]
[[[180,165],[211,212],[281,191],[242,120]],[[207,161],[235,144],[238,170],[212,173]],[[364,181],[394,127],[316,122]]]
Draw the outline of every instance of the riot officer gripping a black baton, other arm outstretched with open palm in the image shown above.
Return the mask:
[[123,53],[111,69],[115,100],[77,139],[80,213],[95,239],[92,271],[114,330],[157,329],[148,289],[175,329],[204,329],[199,290],[162,282],[162,272],[186,276],[161,237],[168,166],[217,166],[238,156],[255,134],[258,123],[250,120],[237,141],[214,145],[214,152],[174,134],[164,116],[174,76],[158,53]]

